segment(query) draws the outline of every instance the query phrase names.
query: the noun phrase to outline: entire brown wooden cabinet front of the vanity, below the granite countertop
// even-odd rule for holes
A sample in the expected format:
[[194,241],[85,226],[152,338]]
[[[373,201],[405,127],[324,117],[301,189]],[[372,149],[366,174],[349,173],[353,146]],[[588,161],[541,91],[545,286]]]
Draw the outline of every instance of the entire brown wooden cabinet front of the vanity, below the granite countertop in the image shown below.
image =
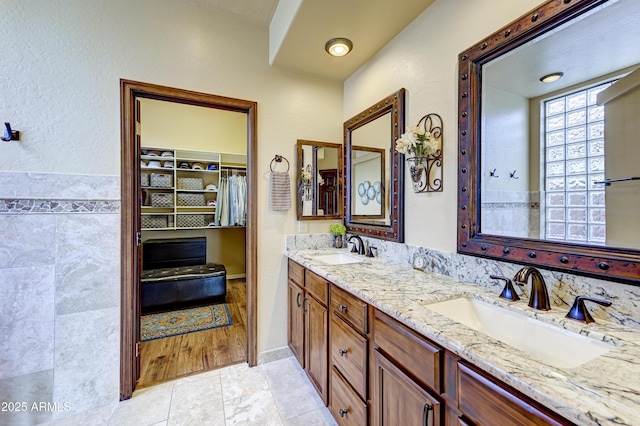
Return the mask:
[[341,425],[573,425],[289,260],[288,343]]

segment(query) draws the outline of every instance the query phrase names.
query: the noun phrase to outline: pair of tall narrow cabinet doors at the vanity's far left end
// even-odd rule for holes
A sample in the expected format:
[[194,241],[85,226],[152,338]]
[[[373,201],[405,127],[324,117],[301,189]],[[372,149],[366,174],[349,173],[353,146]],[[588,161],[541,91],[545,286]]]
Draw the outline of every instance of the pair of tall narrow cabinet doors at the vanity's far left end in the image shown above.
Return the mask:
[[289,260],[287,340],[322,401],[329,401],[329,282]]

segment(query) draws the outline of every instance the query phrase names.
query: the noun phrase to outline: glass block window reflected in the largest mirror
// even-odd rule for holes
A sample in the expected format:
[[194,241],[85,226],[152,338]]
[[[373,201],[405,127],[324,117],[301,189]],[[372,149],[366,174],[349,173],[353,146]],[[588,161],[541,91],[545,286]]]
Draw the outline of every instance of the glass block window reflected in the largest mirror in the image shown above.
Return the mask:
[[544,102],[545,238],[605,244],[604,107],[613,82]]

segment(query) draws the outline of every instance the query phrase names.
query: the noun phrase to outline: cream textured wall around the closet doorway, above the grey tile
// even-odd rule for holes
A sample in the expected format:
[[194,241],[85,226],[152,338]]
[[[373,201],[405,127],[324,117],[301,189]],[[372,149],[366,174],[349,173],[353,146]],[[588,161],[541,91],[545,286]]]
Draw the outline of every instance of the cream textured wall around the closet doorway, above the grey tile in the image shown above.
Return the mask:
[[119,178],[121,78],[258,102],[258,352],[285,346],[296,215],[269,210],[269,163],[282,154],[295,176],[297,139],[342,140],[342,85],[271,67],[268,28],[183,2],[3,0],[2,14],[0,117],[23,137],[1,145],[0,174]]

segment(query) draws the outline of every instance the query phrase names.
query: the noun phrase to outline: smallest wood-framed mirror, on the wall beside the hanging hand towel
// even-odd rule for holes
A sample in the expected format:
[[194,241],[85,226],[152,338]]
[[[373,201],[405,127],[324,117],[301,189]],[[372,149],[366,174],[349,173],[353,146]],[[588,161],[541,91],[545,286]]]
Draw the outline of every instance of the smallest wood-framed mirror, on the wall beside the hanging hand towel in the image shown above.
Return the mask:
[[342,218],[342,145],[297,142],[298,220]]

